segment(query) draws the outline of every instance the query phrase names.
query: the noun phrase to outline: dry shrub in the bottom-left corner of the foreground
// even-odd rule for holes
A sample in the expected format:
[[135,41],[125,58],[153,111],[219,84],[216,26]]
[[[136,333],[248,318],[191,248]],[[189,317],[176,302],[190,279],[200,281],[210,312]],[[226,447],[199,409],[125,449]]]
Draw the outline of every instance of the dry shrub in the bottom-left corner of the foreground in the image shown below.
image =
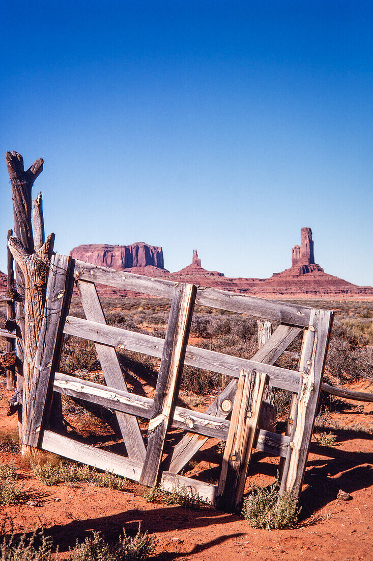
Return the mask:
[[0,559],[2,561],[51,561],[52,538],[44,535],[43,528],[35,530],[30,537],[18,536],[5,530],[6,520],[0,527]]

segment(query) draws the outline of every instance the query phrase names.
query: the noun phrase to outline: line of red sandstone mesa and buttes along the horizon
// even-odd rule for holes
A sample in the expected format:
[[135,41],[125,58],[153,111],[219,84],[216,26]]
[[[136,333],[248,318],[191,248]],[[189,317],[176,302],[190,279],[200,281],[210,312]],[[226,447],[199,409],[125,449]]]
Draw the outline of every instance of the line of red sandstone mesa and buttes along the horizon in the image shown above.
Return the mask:
[[270,278],[229,278],[223,273],[206,270],[202,267],[197,250],[193,250],[190,265],[170,273],[164,268],[162,248],[144,242],[128,246],[81,245],[75,247],[70,255],[74,259],[112,269],[267,298],[373,296],[372,287],[359,287],[324,273],[324,269],[315,263],[311,228],[301,229],[300,245],[295,245],[291,250],[291,267],[281,273],[273,273]]

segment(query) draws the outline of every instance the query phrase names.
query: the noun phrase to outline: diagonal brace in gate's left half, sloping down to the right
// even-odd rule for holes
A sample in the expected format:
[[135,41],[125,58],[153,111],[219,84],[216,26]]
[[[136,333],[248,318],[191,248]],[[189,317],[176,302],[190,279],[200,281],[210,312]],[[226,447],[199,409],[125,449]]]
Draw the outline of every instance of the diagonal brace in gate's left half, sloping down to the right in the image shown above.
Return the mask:
[[[106,327],[105,314],[94,283],[78,280],[76,285],[87,320],[93,320],[96,322],[96,325],[102,324]],[[96,343],[95,346],[106,384],[127,391],[127,384],[125,383],[115,348],[99,343]],[[118,420],[129,458],[143,462],[146,450],[138,420],[136,417],[125,415],[122,412],[116,412],[116,419]]]

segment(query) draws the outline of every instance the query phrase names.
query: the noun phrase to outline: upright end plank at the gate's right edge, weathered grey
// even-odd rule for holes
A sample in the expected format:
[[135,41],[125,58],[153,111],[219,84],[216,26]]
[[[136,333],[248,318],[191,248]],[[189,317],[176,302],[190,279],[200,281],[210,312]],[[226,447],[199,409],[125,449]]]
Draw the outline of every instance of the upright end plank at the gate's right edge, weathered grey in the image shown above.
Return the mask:
[[327,310],[311,311],[310,325],[302,349],[302,378],[280,486],[280,493],[289,491],[297,499],[302,488],[319,403],[333,316],[333,312]]

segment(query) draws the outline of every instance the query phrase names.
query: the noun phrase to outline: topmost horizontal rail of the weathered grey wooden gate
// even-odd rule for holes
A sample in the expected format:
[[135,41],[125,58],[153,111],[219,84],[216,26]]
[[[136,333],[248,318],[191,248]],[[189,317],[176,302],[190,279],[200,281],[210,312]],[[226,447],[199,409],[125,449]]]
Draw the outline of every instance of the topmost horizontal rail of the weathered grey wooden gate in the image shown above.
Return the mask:
[[[79,260],[75,263],[74,277],[160,298],[172,298],[174,288],[178,284],[171,280],[143,277],[142,275],[116,271]],[[287,304],[276,300],[222,291],[217,288],[198,287],[195,301],[201,306],[234,311],[254,318],[264,318],[299,327],[307,327],[310,321],[311,308],[308,306]]]

